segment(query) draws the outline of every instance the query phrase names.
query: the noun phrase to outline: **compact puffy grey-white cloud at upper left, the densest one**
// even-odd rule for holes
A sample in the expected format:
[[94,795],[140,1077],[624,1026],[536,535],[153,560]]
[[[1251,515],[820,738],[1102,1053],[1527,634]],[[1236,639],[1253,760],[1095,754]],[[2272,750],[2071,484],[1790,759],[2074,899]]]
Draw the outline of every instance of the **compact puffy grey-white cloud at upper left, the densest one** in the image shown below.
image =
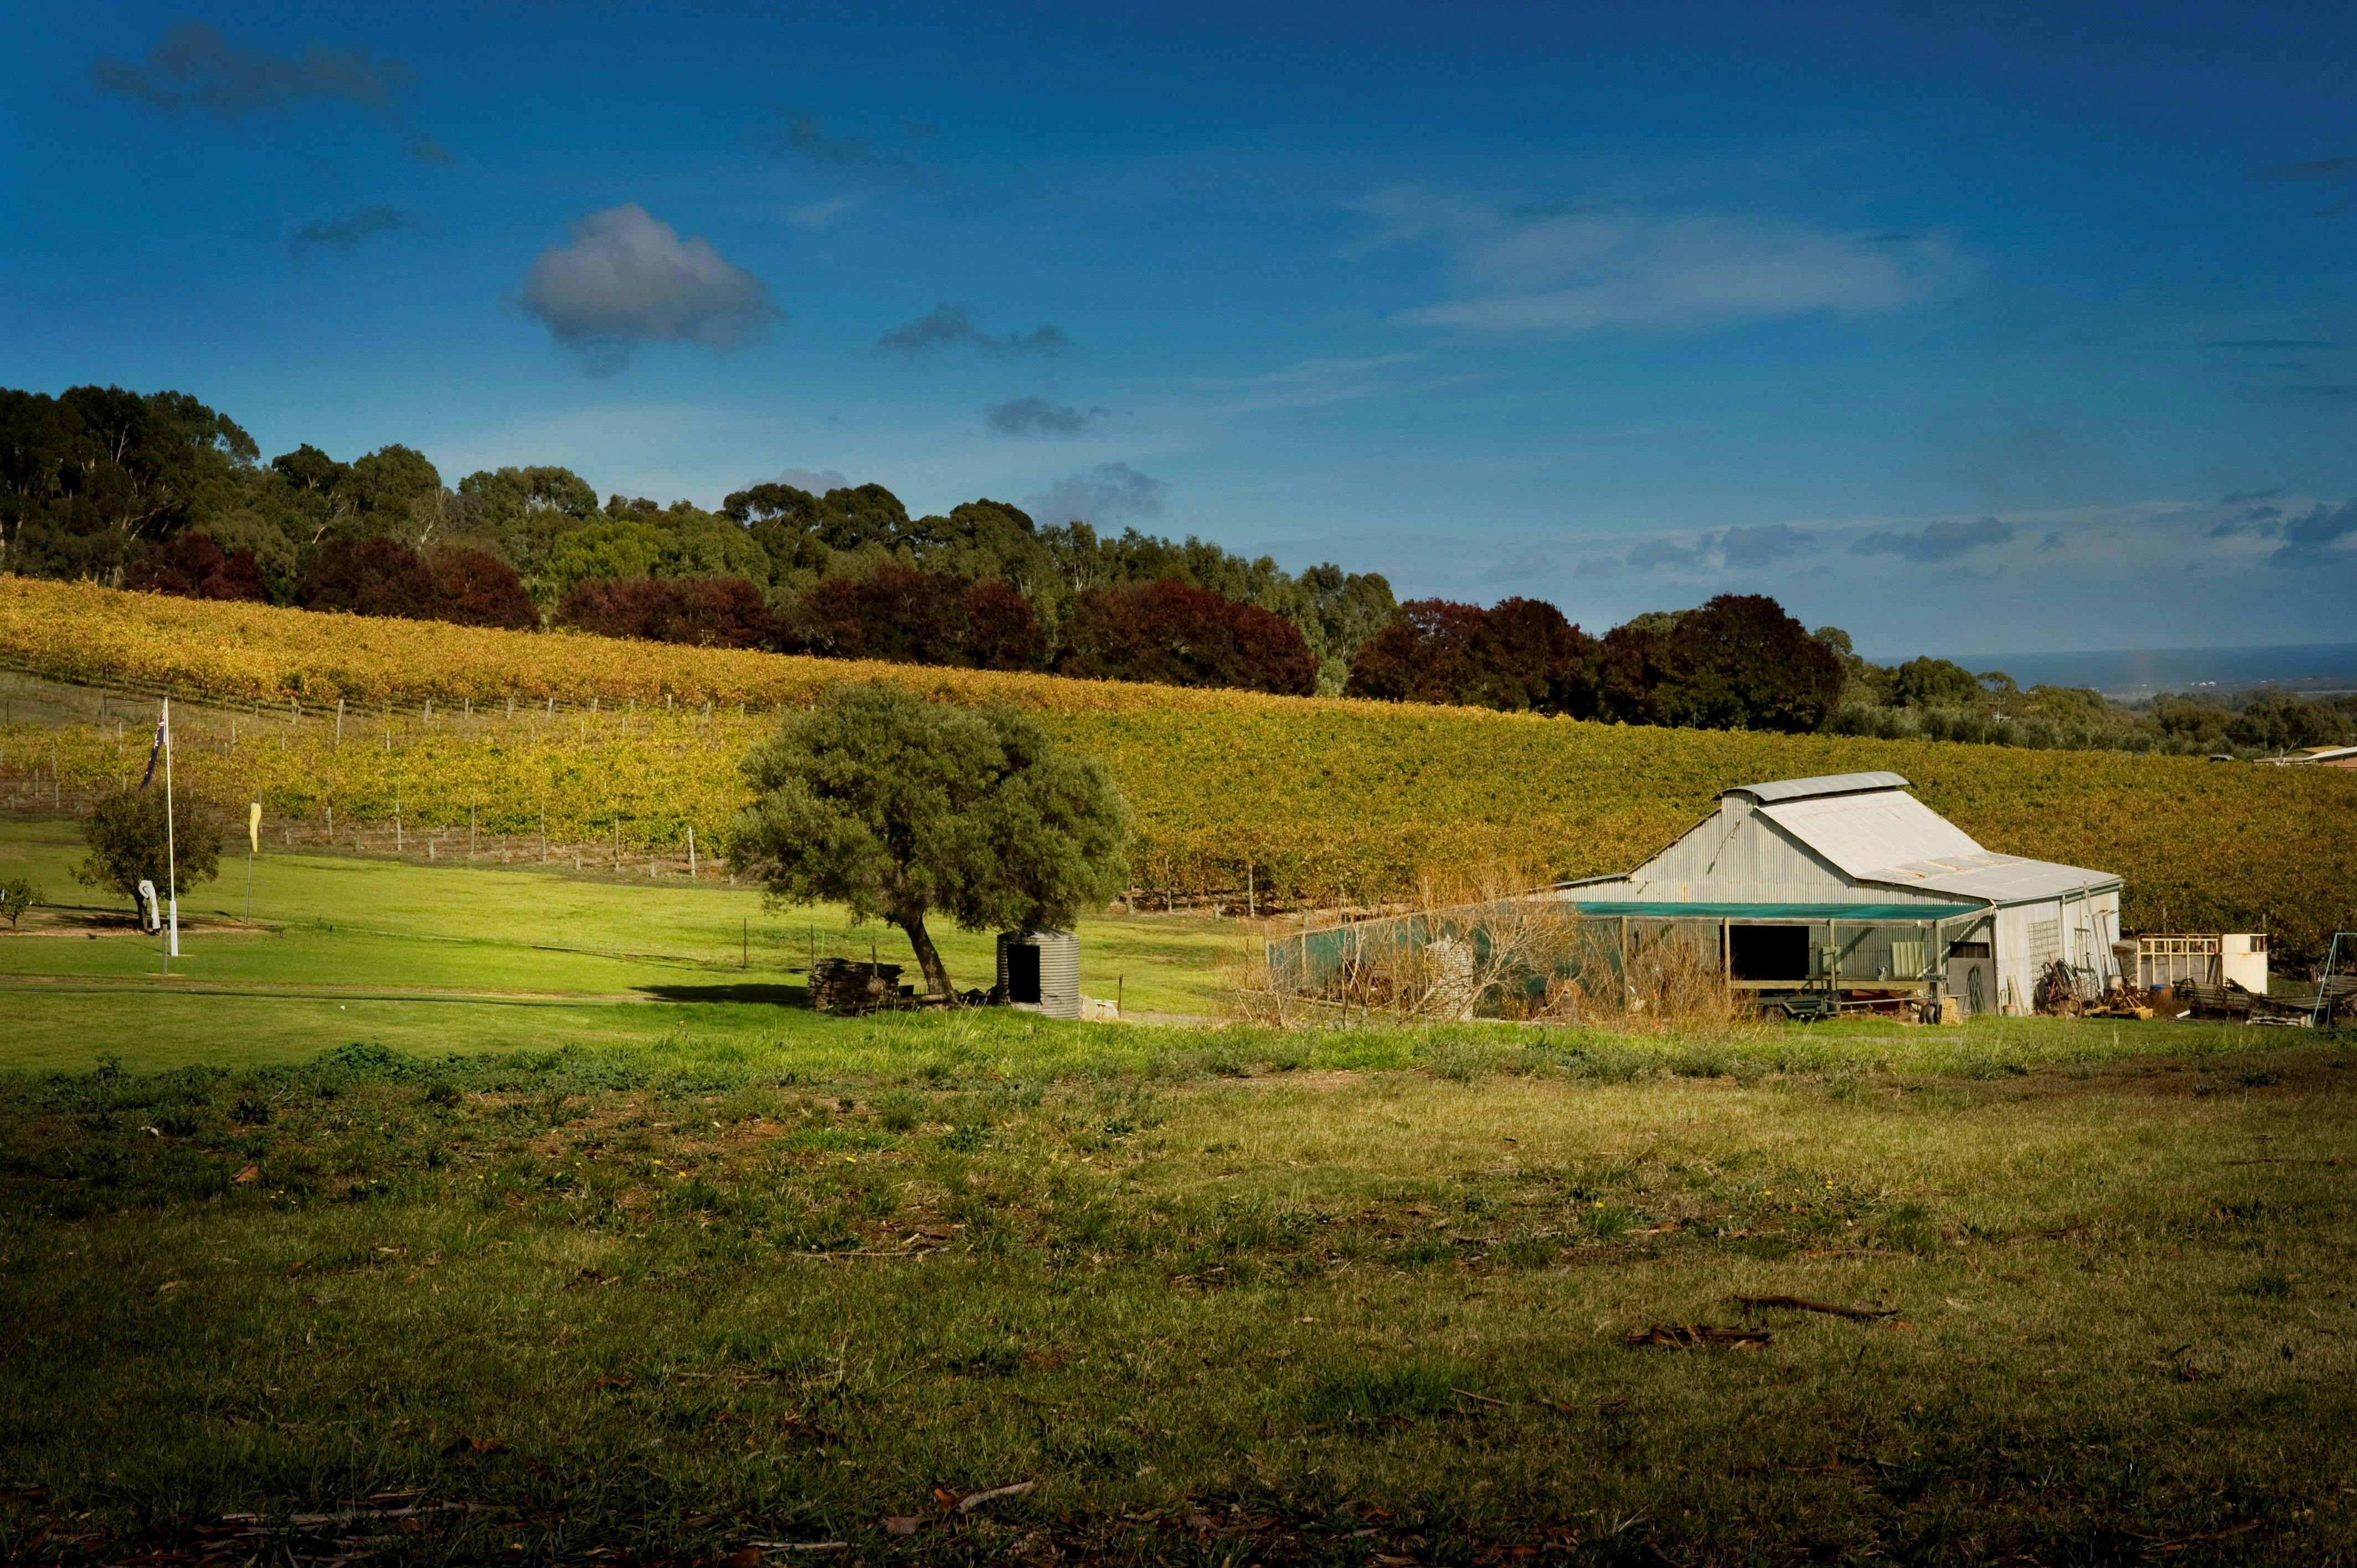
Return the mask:
[[523,278],[523,309],[592,370],[618,370],[651,342],[740,349],[785,316],[768,285],[636,203],[592,212],[573,224],[570,245],[542,250]]

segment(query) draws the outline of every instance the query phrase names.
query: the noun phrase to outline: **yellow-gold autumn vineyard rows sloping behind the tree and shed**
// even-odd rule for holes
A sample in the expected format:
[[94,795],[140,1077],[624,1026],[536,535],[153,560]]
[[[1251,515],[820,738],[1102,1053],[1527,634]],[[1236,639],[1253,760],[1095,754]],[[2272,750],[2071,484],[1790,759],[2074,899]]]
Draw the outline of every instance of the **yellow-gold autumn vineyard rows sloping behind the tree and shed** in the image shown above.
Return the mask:
[[[224,606],[0,578],[0,660],[85,684],[170,686],[262,703],[236,745],[184,745],[193,788],[316,821],[464,825],[552,842],[674,849],[693,825],[719,851],[745,799],[738,757],[773,724],[733,705],[806,703],[891,679],[959,703],[1032,710],[1101,757],[1138,813],[1148,894],[1369,901],[1445,868],[1626,870],[1690,828],[1718,790],[1763,778],[1893,769],[1973,837],[2011,854],[2114,870],[2128,924],[2270,929],[2289,957],[2357,929],[2357,773],[2227,766],[2126,752],[1768,736],[1582,724],[1044,674],[924,670],[476,632],[431,622]],[[318,722],[335,698],[471,700],[467,722]],[[521,698],[507,717],[504,698]],[[674,707],[660,707],[669,696]],[[601,700],[596,714],[547,700]],[[290,700],[311,714],[285,719]],[[709,717],[700,705],[714,703]],[[530,703],[542,703],[533,707]],[[610,705],[625,703],[622,712]],[[636,705],[634,710],[627,705]],[[653,707],[651,707],[653,705]],[[486,717],[488,710],[488,717]],[[137,773],[144,736],[16,729],[0,764],[57,750],[68,780]],[[226,752],[226,755],[224,755]]]

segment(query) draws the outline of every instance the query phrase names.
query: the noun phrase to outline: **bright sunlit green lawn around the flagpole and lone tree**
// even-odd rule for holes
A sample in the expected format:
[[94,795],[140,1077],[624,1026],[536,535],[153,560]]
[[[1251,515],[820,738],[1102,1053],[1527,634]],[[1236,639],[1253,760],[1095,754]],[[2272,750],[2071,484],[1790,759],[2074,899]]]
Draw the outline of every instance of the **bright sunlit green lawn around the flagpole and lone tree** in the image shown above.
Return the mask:
[[[127,1033],[148,1061],[243,1063],[299,1059],[354,1037],[403,1049],[643,1040],[681,1021],[771,1033],[811,1023],[801,971],[818,955],[915,960],[891,927],[853,929],[844,910],[764,910],[752,889],[719,882],[599,877],[488,863],[420,865],[349,856],[262,854],[245,920],[245,856],[181,898],[181,957],[160,976],[153,936],[127,924],[94,889],[73,882],[80,842],[57,818],[0,821],[0,875],[28,875],[57,908],[0,929],[0,988],[16,1028],[14,1066],[71,1066],[118,1049]],[[1082,986],[1131,1014],[1202,1014],[1214,971],[1242,953],[1235,922],[1193,917],[1091,920],[1082,929]],[[936,931],[959,986],[990,986],[992,938]],[[40,983],[31,988],[12,981]],[[127,990],[66,995],[73,981]],[[245,995],[222,995],[238,990]],[[377,1000],[278,1000],[255,990],[370,993]],[[596,997],[596,1009],[453,1007],[424,997],[469,993],[554,1002]],[[615,1009],[606,1002],[665,1002]],[[693,1004],[681,1012],[676,1004]],[[94,1028],[104,1012],[108,1028]],[[226,1054],[222,1054],[226,1049]]]

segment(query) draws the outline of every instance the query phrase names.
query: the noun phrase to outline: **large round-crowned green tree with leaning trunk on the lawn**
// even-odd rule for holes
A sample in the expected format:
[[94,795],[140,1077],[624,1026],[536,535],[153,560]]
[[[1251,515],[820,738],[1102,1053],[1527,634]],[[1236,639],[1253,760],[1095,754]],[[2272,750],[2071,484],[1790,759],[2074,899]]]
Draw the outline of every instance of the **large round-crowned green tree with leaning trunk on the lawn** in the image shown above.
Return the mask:
[[1068,927],[1129,882],[1129,802],[1094,757],[1006,710],[839,686],[745,759],[754,804],[728,863],[780,905],[844,903],[907,934],[924,983],[950,971],[926,917],[966,931]]

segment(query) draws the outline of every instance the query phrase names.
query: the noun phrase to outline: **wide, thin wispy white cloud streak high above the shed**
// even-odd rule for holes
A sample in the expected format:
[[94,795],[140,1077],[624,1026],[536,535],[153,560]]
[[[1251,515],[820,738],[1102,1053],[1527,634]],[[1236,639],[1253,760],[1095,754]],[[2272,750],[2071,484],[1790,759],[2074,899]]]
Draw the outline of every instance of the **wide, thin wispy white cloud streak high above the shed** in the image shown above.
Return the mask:
[[1369,198],[1362,212],[1386,224],[1376,245],[1431,238],[1454,257],[1454,297],[1393,321],[1468,332],[1683,332],[1810,311],[1864,316],[1916,304],[1961,274],[1954,245],[1909,231],[1857,236],[1622,205],[1494,212],[1417,191]]

